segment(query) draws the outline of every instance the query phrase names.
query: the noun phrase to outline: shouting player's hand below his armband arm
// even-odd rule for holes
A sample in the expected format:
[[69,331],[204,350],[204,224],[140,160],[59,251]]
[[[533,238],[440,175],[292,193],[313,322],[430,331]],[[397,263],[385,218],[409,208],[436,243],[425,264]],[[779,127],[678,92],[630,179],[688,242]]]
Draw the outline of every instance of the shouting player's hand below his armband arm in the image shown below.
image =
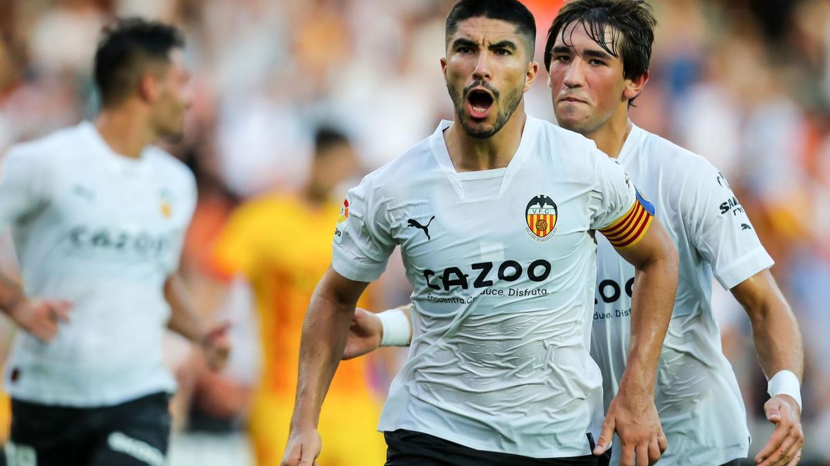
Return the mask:
[[616,447],[622,449],[621,466],[655,464],[668,446],[653,396],[618,394],[608,406],[603,431],[593,454],[601,455],[608,450],[615,430],[621,443]]

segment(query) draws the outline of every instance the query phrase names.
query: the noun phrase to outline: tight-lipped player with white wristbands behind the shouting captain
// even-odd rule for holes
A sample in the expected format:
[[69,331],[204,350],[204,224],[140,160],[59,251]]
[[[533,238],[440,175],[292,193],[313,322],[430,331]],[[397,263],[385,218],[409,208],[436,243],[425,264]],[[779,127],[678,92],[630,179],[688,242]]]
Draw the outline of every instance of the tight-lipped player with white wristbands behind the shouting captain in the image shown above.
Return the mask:
[[[776,428],[755,461],[797,464],[803,445],[803,350],[798,323],[769,274],[773,261],[715,167],[628,119],[629,105],[648,80],[655,24],[640,0],[574,0],[550,27],[544,61],[559,124],[593,139],[623,164],[652,199],[680,255],[680,281],[655,393],[668,439],[660,464],[739,464],[749,449],[745,408],[720,351],[712,313],[713,274],[749,314],[759,362],[769,377],[772,398],[764,410]],[[631,361],[635,284],[640,286],[635,269],[618,258],[608,240],[598,238],[591,354],[603,371],[609,410],[624,389]],[[345,356],[377,347],[381,337],[406,344],[410,331],[404,313],[388,311],[378,320],[361,310]],[[613,464],[632,464],[632,454],[623,442],[613,451]]]

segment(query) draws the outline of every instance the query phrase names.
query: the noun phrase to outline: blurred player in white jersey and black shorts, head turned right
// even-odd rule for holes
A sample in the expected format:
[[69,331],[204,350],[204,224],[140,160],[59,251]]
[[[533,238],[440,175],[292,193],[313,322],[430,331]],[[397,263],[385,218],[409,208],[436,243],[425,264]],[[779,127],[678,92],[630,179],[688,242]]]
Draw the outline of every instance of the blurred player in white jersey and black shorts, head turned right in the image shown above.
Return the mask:
[[164,329],[227,357],[178,277],[196,190],[182,163],[149,145],[181,138],[190,104],[183,38],[159,22],[105,30],[95,52],[102,109],[8,150],[0,229],[12,227],[25,289],[0,275],[18,333],[5,382],[11,466],[164,464]]

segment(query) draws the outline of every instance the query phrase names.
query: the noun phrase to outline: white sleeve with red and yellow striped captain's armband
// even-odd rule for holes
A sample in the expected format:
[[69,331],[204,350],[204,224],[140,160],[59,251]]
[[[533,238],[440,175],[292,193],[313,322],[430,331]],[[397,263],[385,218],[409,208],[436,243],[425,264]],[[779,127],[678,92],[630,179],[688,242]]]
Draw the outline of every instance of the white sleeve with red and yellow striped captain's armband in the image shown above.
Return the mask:
[[634,187],[618,161],[606,157],[596,173],[599,207],[592,228],[618,250],[637,245],[654,219],[654,206]]

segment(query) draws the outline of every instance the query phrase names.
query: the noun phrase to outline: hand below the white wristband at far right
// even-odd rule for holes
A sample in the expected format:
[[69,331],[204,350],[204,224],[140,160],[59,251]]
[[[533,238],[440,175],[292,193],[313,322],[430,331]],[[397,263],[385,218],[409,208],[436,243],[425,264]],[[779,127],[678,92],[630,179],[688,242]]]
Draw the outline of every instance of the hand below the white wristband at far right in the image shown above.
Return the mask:
[[789,395],[776,395],[764,403],[767,420],[775,430],[759,454],[755,464],[760,466],[791,466],[801,460],[804,433],[801,430],[801,410]]

